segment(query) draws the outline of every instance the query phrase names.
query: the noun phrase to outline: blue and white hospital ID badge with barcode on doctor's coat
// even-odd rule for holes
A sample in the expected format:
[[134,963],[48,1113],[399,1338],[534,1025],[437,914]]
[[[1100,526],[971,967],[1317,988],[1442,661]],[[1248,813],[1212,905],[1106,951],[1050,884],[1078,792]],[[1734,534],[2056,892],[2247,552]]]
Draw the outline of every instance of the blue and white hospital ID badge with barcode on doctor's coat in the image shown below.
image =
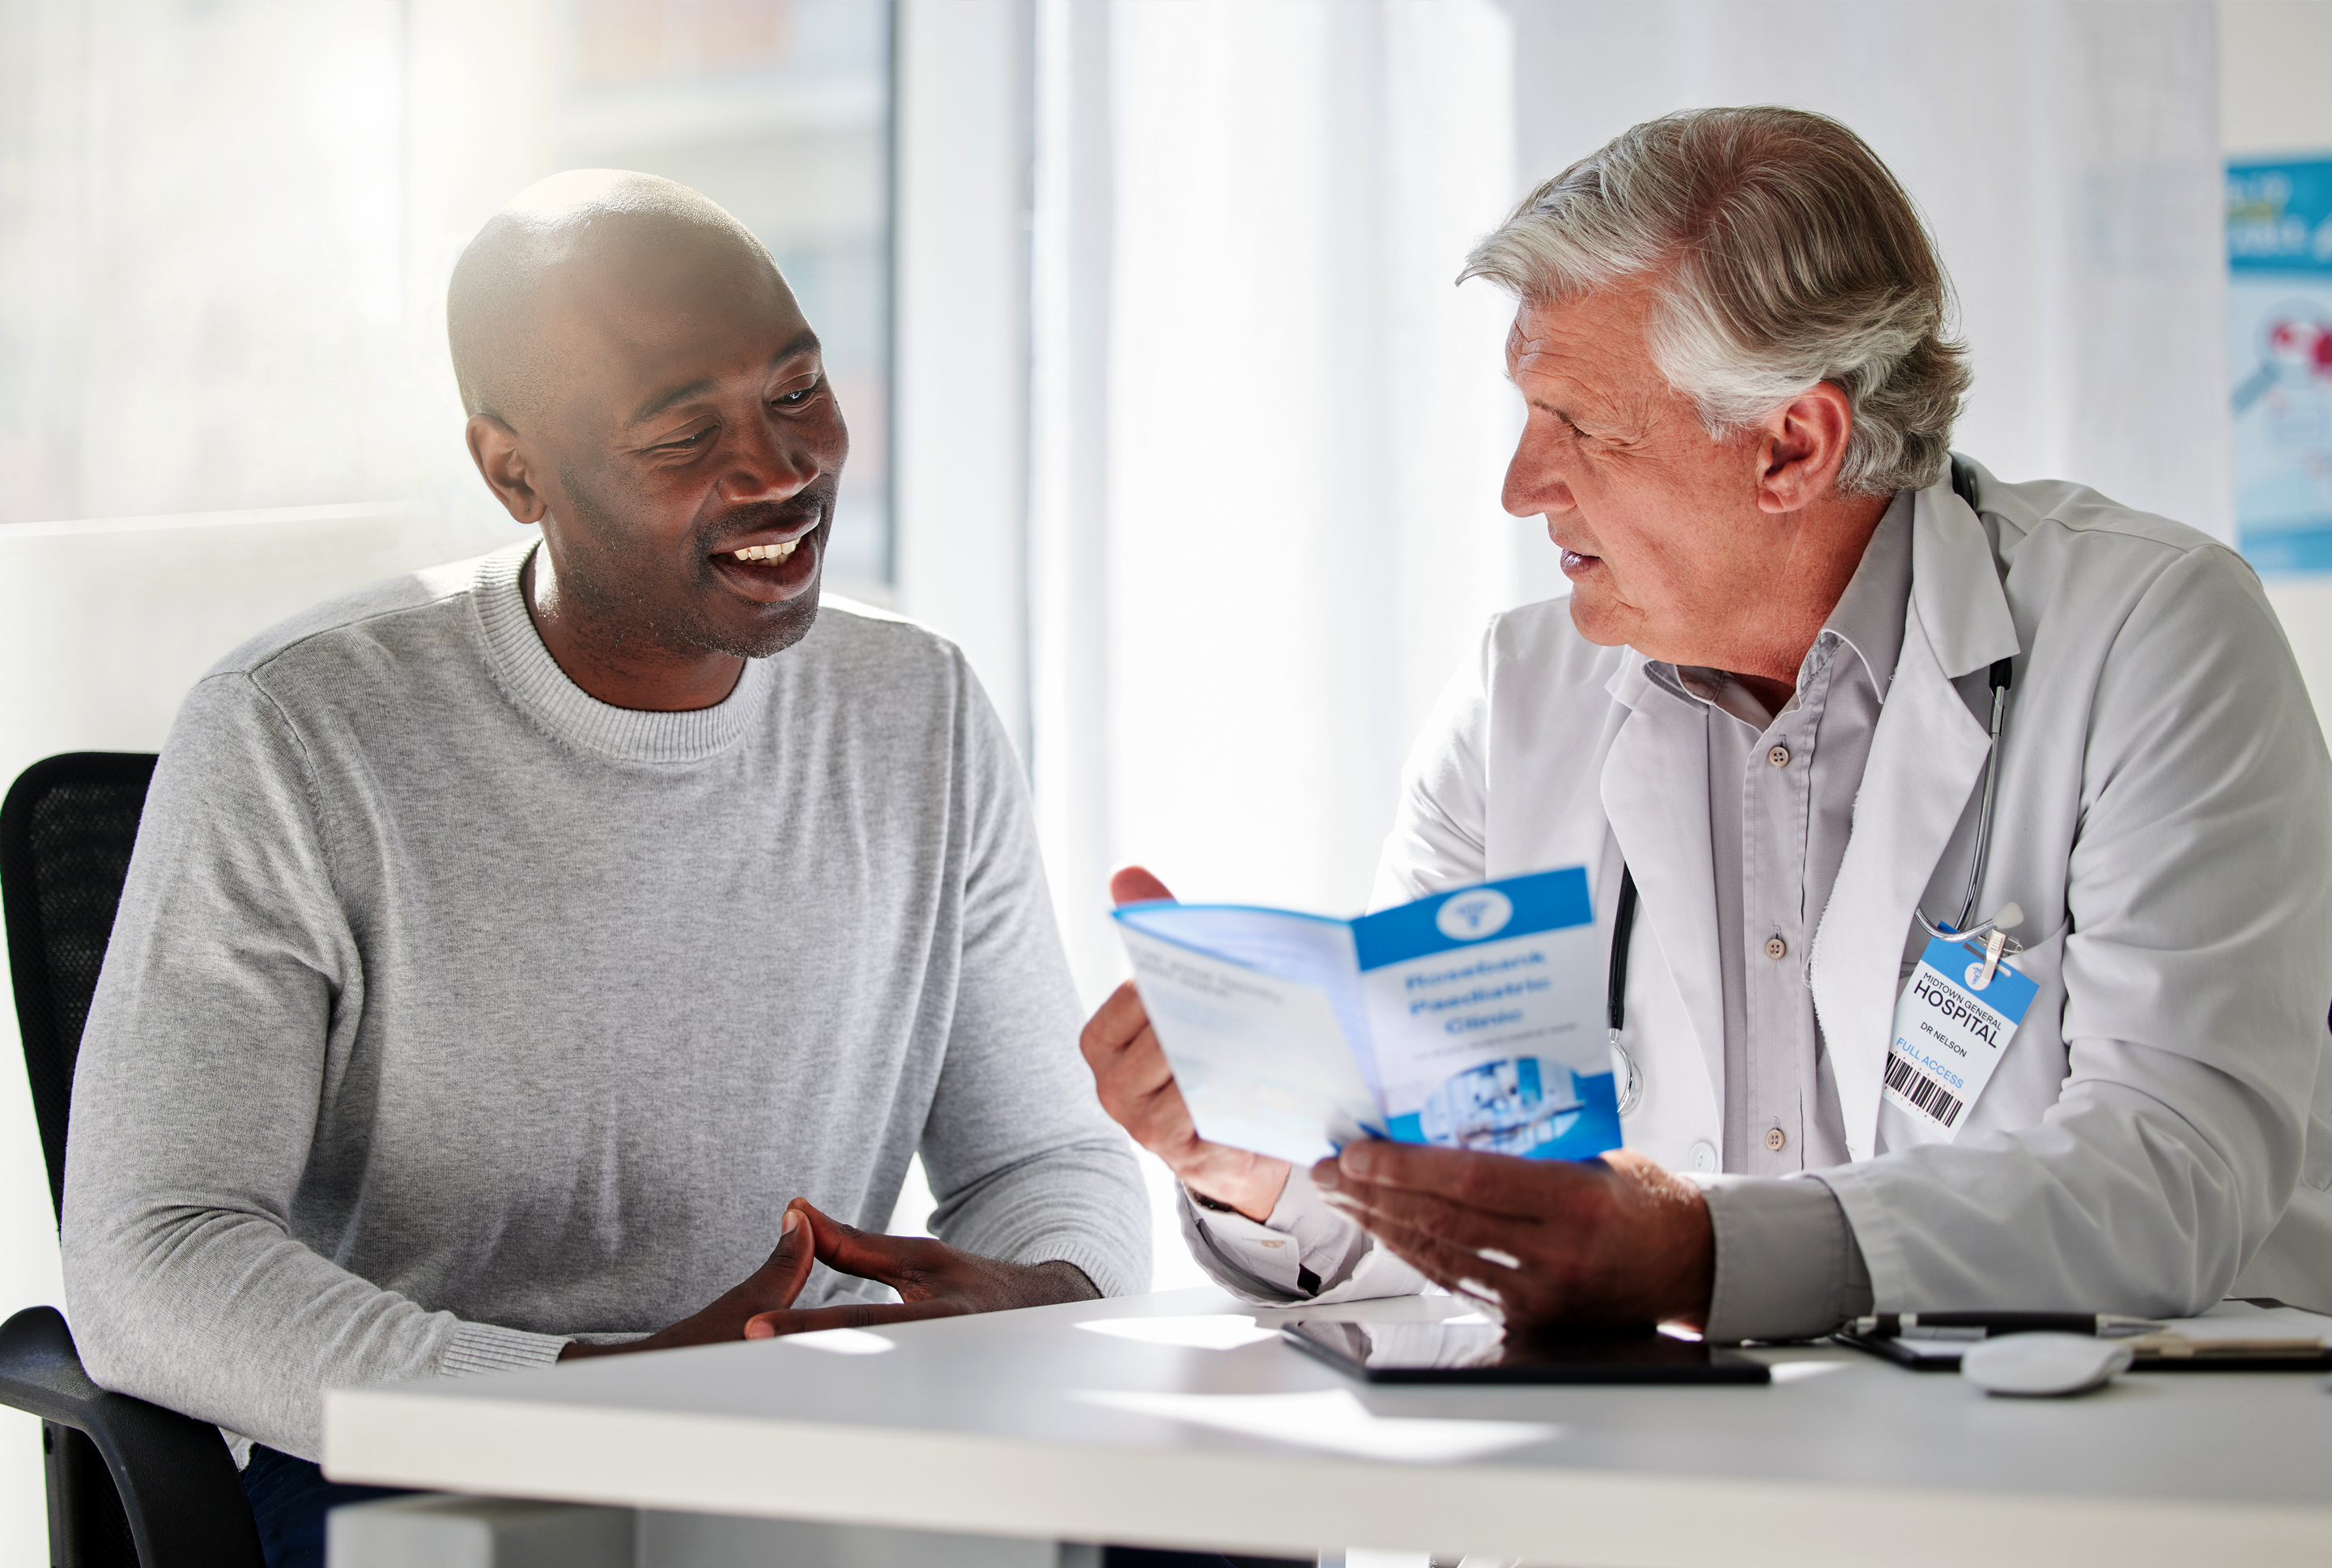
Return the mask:
[[1994,965],[1985,979],[1982,953],[1964,941],[1929,941],[1896,1000],[1887,1097],[1943,1142],[1957,1139],[2038,993],[2008,965]]

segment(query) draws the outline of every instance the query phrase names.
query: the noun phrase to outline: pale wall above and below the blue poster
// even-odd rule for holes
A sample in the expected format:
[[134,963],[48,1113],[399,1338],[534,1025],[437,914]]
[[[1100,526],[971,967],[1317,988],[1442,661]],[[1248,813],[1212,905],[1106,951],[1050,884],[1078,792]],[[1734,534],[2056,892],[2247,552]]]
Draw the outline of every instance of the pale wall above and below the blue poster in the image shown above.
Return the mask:
[[[2332,0],[2227,0],[2218,9],[2220,137],[2229,156],[2332,156]],[[2332,575],[2274,578],[2267,596],[2332,729]]]

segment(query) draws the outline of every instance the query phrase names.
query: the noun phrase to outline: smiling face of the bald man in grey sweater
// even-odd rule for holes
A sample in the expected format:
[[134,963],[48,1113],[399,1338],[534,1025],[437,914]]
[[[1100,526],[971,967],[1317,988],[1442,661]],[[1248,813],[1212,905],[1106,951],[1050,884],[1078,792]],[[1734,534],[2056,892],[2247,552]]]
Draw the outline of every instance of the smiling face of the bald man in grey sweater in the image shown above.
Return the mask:
[[728,235],[595,240],[546,289],[562,373],[525,433],[555,475],[560,592],[630,652],[791,648],[819,613],[849,454],[819,338]]

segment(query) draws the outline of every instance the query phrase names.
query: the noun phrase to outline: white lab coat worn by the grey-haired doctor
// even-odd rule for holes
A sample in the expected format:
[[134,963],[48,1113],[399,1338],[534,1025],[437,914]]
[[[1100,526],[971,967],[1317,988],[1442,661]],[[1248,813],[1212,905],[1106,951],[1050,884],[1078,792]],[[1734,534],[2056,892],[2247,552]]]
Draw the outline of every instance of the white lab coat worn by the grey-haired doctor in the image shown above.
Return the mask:
[[[1978,503],[1917,496],[1903,655],[1810,960],[1854,1156],[1824,1179],[1877,1309],[2332,1309],[2332,764],[2283,631],[2192,529],[1982,468]],[[1912,906],[1959,913],[2010,655],[1978,918],[2024,906],[2040,993],[1945,1144],[1880,1076]],[[1586,864],[1609,941],[1625,857],[1625,1139],[1672,1170],[1723,1107],[1705,734],[1567,601],[1499,615],[1411,755],[1378,881],[1392,902]]]

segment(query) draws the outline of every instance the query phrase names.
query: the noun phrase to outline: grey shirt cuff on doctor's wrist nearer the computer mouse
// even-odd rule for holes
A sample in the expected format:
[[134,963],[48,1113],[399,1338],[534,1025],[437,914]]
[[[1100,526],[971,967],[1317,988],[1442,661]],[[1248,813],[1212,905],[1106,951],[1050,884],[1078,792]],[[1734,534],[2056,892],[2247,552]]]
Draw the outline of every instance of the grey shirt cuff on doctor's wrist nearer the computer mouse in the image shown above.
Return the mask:
[[1810,1340],[1870,1312],[1870,1270],[1838,1198],[1814,1177],[1707,1177],[1716,1239],[1707,1337]]

